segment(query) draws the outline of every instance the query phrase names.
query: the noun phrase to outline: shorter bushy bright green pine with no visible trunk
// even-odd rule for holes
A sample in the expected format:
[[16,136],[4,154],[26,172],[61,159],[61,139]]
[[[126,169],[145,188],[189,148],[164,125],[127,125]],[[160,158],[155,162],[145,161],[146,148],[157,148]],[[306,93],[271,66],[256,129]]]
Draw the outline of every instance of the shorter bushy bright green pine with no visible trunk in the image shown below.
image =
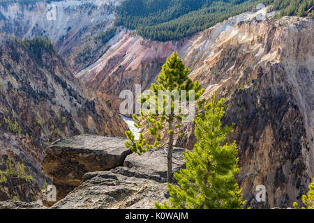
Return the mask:
[[[197,143],[193,151],[184,153],[186,169],[174,174],[178,185],[167,184],[170,205],[156,203],[160,209],[216,209],[242,208],[241,190],[234,178],[239,171],[237,144],[224,144],[232,126],[221,126],[224,99],[205,105],[204,112],[195,118]],[[224,145],[223,145],[224,144]]]

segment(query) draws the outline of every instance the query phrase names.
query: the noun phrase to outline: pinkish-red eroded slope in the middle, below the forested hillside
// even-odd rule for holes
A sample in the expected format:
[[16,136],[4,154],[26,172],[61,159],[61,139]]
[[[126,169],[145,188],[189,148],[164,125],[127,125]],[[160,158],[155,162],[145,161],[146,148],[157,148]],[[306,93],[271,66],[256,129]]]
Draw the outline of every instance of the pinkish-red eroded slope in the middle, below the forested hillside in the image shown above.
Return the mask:
[[[179,43],[158,43],[122,30],[117,40],[96,63],[75,75],[82,82],[96,89],[119,109],[119,94],[123,90],[135,92],[135,84],[148,89],[160,68],[179,47]],[[115,43],[114,43],[115,42]]]

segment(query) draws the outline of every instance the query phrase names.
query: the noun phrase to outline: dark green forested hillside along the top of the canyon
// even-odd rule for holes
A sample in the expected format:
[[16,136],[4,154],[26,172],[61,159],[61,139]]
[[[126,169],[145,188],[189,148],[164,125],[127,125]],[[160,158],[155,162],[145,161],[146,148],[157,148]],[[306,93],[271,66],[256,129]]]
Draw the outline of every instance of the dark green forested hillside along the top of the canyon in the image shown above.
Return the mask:
[[180,40],[257,3],[274,4],[280,15],[298,16],[313,6],[313,0],[124,0],[117,8],[116,25],[152,40]]

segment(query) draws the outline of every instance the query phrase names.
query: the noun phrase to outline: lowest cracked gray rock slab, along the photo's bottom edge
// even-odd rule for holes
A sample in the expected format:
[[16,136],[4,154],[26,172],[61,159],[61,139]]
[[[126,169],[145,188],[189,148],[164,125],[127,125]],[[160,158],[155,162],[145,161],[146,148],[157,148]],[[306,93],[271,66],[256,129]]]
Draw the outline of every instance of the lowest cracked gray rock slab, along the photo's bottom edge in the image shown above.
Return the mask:
[[82,184],[52,209],[154,208],[167,201],[167,185],[154,180],[98,171],[83,176]]

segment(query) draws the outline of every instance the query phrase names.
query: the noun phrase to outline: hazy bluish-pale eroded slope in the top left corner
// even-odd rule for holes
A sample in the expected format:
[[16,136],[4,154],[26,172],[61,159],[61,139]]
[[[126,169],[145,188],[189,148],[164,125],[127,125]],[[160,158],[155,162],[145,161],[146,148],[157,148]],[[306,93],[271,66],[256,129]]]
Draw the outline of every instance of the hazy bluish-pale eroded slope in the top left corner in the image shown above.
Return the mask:
[[69,68],[76,72],[107,49],[95,37],[112,25],[114,6],[119,1],[0,3],[0,31],[21,39],[50,38]]

